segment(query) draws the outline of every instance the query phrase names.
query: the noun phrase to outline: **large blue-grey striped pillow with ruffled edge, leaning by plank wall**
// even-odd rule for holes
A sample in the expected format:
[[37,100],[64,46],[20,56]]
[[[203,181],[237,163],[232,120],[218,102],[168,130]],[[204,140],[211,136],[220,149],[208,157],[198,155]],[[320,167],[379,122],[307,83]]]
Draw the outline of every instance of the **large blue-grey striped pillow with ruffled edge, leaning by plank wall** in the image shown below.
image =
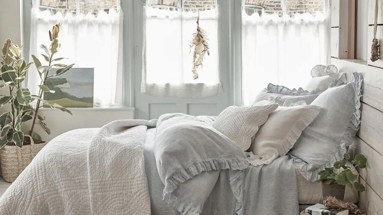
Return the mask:
[[312,105],[322,107],[289,151],[296,167],[308,181],[319,171],[343,159],[360,127],[362,75],[354,72],[350,83],[321,93]]

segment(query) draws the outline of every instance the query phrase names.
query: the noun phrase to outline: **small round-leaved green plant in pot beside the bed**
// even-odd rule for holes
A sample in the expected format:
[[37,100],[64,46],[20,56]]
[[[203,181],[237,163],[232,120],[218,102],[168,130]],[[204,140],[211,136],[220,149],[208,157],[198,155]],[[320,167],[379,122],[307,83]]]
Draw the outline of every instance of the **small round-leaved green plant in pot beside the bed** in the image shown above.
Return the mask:
[[[367,158],[362,154],[354,156],[355,147],[352,148],[352,150],[352,165],[354,165],[355,168],[366,168]],[[325,168],[318,173],[321,176],[321,178],[319,178],[318,181],[322,182],[323,200],[325,200],[327,196],[332,196],[339,200],[343,200],[346,186],[352,188],[352,186],[354,185],[357,191],[365,191],[365,187],[359,182],[355,181],[357,179],[357,175],[354,174],[356,169],[352,171],[349,166],[346,166],[347,160],[350,159],[350,155],[348,153],[345,153],[343,157],[343,160],[336,161],[333,167]]]

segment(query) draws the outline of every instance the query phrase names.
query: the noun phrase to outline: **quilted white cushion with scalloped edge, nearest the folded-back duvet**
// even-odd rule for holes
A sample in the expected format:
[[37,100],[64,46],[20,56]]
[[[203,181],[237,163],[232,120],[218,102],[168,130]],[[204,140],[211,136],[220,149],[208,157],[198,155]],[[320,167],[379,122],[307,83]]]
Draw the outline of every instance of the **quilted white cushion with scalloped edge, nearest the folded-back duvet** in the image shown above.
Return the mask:
[[274,103],[250,107],[229,106],[218,115],[212,126],[246,151],[259,126],[277,108],[278,104]]

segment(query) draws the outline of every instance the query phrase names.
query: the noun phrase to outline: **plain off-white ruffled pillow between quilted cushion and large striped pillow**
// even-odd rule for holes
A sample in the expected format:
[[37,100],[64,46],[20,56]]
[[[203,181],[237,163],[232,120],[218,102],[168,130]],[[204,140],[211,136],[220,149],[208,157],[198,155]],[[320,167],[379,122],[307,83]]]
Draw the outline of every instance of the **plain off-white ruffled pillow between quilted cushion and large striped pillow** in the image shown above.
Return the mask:
[[[272,104],[270,101],[259,101],[253,105]],[[306,105],[304,101],[291,103],[286,100],[269,114],[248,151],[249,163],[254,166],[269,164],[276,158],[284,156],[293,148],[302,131],[318,116],[321,107]]]

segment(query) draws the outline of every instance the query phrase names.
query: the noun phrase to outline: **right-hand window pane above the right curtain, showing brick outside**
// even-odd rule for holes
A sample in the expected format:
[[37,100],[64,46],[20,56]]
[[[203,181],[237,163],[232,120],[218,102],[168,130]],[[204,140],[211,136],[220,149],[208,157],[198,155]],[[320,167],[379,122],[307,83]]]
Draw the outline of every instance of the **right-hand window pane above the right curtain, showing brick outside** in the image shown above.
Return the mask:
[[286,0],[286,6],[288,11],[300,10],[299,13],[315,13],[317,10],[323,11],[324,0]]

